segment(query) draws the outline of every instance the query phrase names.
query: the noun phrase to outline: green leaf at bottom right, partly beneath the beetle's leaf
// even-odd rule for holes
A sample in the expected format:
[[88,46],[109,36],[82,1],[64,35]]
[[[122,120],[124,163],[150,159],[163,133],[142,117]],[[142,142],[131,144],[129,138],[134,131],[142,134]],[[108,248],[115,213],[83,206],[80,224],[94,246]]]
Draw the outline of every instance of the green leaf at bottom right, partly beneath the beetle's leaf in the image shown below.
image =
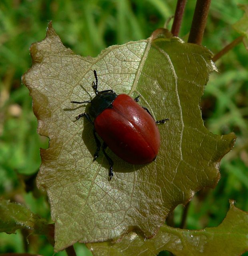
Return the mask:
[[146,239],[135,232],[121,242],[87,244],[94,256],[155,256],[168,250],[176,256],[238,256],[248,250],[248,212],[234,206],[216,228],[185,230],[163,225],[156,236]]

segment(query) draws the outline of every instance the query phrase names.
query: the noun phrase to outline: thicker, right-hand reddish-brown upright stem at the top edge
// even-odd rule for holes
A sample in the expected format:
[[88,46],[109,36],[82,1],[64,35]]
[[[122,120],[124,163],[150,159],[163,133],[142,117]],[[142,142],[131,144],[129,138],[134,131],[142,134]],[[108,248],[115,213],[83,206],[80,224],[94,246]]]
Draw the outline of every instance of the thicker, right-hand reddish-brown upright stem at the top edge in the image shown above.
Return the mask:
[[202,44],[211,0],[197,0],[188,43]]

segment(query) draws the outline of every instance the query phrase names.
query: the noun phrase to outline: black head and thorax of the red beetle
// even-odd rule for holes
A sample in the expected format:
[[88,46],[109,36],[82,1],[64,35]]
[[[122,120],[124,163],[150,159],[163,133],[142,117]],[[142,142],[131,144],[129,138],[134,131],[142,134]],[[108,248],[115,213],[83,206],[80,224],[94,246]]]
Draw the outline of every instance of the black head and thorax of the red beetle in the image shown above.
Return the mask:
[[98,92],[98,94],[91,100],[90,115],[96,118],[102,111],[109,108],[112,102],[117,97],[115,92]]

